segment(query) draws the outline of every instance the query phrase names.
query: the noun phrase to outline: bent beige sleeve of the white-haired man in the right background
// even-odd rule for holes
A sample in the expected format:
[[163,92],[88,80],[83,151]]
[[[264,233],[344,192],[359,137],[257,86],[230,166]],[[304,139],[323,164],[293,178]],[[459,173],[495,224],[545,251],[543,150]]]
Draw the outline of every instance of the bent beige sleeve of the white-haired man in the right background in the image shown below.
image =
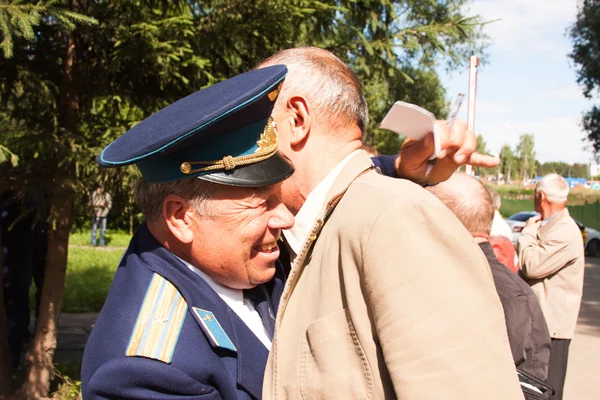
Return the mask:
[[519,260],[523,276],[543,279],[575,262],[573,253],[565,251],[572,237],[570,233],[568,229],[557,229],[551,240],[542,243],[536,233],[523,229],[519,237]]

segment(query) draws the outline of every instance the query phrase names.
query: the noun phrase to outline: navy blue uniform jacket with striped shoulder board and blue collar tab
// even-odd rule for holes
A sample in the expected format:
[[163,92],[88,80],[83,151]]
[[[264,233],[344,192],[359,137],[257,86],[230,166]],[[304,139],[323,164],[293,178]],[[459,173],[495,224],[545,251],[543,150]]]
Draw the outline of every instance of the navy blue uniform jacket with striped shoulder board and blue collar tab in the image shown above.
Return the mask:
[[[278,286],[277,277],[271,289]],[[88,340],[83,398],[258,399],[267,356],[237,314],[144,224]]]

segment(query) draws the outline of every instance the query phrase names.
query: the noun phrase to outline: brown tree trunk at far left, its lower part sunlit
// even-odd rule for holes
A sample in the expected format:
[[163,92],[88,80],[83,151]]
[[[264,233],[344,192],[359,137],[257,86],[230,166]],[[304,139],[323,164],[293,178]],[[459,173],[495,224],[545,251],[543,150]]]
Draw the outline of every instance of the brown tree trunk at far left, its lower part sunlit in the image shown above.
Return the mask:
[[53,226],[48,229],[48,255],[40,315],[31,348],[26,356],[28,371],[22,387],[26,398],[47,397],[50,391],[54,371],[52,359],[56,349],[58,319],[65,290],[72,205],[72,190],[64,181],[57,182],[50,208],[50,221],[53,222]]

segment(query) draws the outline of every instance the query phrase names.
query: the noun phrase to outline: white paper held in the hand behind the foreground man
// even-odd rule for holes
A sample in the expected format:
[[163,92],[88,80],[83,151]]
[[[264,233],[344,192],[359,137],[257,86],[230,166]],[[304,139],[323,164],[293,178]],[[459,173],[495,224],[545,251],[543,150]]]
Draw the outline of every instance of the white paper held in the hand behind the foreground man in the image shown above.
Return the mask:
[[433,132],[435,151],[432,157],[435,157],[440,151],[440,144],[433,130],[434,122],[435,115],[426,109],[411,103],[397,101],[381,121],[380,127],[414,140],[422,140],[425,135]]

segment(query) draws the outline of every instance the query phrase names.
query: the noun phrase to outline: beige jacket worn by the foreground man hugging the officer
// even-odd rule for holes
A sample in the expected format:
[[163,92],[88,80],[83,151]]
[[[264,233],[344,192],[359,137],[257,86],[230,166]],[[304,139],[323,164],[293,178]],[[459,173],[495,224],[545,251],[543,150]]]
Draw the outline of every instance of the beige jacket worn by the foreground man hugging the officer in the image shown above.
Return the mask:
[[[369,165],[354,157],[330,198]],[[373,170],[322,225],[286,283],[264,399],[523,398],[490,269],[441,202]]]

